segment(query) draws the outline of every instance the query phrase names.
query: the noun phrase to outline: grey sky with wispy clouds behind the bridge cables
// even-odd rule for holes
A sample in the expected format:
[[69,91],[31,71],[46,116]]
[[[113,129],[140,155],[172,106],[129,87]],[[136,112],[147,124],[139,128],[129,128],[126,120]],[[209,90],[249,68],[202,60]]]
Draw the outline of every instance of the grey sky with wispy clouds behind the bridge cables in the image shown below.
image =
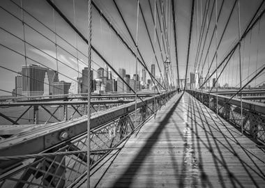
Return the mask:
[[[199,43],[199,33],[202,27],[202,18],[204,12],[206,12],[207,0],[195,0],[195,17],[192,24],[192,35],[190,42],[190,56],[188,61],[188,77],[189,72],[195,70],[195,57],[197,54],[197,48]],[[128,45],[135,51],[135,45],[133,45],[126,27],[124,26],[119,13],[114,6],[113,0],[97,0],[96,5],[100,8],[101,13],[104,14],[109,22],[119,31]],[[160,45],[162,44],[160,26],[158,22],[158,15],[156,14],[156,26],[153,24],[151,11],[155,10],[155,2],[158,4],[158,10],[160,12],[160,0],[150,0],[151,8],[149,7],[148,0],[139,1],[142,6],[144,15],[139,12],[138,20],[138,47],[142,54],[147,67],[151,71],[151,64],[156,64],[156,77],[160,76],[164,72],[163,62],[165,61],[165,52],[162,47],[162,56],[160,54]],[[167,22],[167,36],[169,41],[170,62],[172,63],[172,75],[174,81],[177,78],[176,71],[176,54],[174,46],[174,31],[172,22],[172,5],[169,0],[161,0],[164,7],[164,16]],[[116,0],[121,14],[123,15],[128,28],[132,33],[133,38],[136,41],[137,36],[137,0]],[[185,68],[187,65],[187,53],[188,53],[188,33],[190,29],[190,10],[191,1],[176,0],[174,1],[176,8],[176,40],[178,49],[178,62],[179,62],[179,77],[185,78]],[[209,35],[206,36],[206,26],[204,34],[202,35],[202,42],[204,39],[213,35],[213,42],[209,47],[209,58],[206,57],[206,52],[209,46],[209,40],[206,41],[204,51],[199,52],[199,57],[202,55],[199,71],[203,72],[204,77],[206,72],[213,72],[216,68],[216,60],[213,58],[213,54],[216,50],[216,42],[220,40],[222,32],[225,29],[225,24],[229,17],[229,13],[232,10],[234,1],[225,0],[220,13],[220,18],[217,24],[217,36],[213,33],[215,26],[215,15],[220,11],[222,1],[217,1],[217,7],[213,7],[213,0],[209,0],[209,14],[210,18],[211,9],[213,8],[213,15],[209,20]],[[240,30],[241,33],[245,30],[250,18],[255,13],[255,10],[261,3],[261,0],[240,0]],[[63,14],[68,17],[77,29],[84,36],[87,36],[87,1],[85,0],[54,0],[54,4],[61,10]],[[73,29],[58,15],[54,13],[52,7],[44,0],[22,0],[22,11],[20,0],[1,0],[0,1],[0,88],[3,91],[12,91],[15,88],[15,75],[16,72],[22,70],[22,65],[38,64],[46,66],[59,71],[59,79],[65,81],[73,81],[75,77],[79,77],[82,69],[87,65],[87,45],[80,38]],[[264,7],[263,7],[264,8]],[[262,9],[263,9],[262,8]],[[238,17],[238,3],[232,13],[232,17],[227,25],[227,30],[222,38],[220,47],[218,48],[217,62],[220,63],[222,59],[227,55],[229,50],[232,49],[234,43],[239,39],[239,17]],[[11,15],[13,14],[13,15]],[[30,15],[29,15],[30,14]],[[23,15],[23,16],[22,16]],[[32,15],[32,16],[31,16]],[[151,41],[144,25],[143,16],[146,19],[146,25],[149,30]],[[24,19],[24,27],[22,25],[22,17]],[[34,17],[34,18],[33,18]],[[161,14],[159,14],[161,19]],[[36,19],[35,19],[36,18]],[[260,22],[257,22],[256,26],[250,33],[242,40],[241,43],[241,65],[243,80],[248,81],[248,77],[251,77],[252,72],[259,70],[264,65],[265,61],[265,37],[264,17]],[[34,31],[34,29],[36,31]],[[158,38],[155,35],[155,29],[158,32]],[[55,36],[54,31],[58,34]],[[165,35],[165,33],[163,33]],[[26,42],[23,42],[25,38]],[[165,40],[165,38],[164,38]],[[153,43],[156,55],[151,48],[151,42]],[[56,45],[54,45],[56,43]],[[92,45],[105,59],[112,65],[117,71],[118,68],[126,68],[126,74],[135,74],[136,59],[135,56],[128,51],[127,47],[123,45],[121,40],[116,36],[114,31],[105,22],[100,13],[95,8],[92,9]],[[26,49],[26,50],[25,50]],[[28,57],[27,62],[24,56]],[[139,54],[138,54],[139,55]],[[57,61],[56,61],[57,58]],[[158,59],[158,63],[156,62]],[[77,63],[78,59],[78,63]],[[92,68],[97,70],[99,67],[105,67],[105,63],[92,52]],[[213,65],[209,69],[209,65],[213,60]],[[198,61],[199,62],[199,61]],[[202,71],[202,65],[205,62],[204,69]],[[199,65],[199,63],[198,63]],[[158,68],[159,66],[159,68]],[[137,71],[141,72],[142,65],[137,63]],[[197,67],[198,68],[198,67]],[[220,71],[220,70],[218,70]],[[93,73],[96,75],[96,72]],[[116,75],[114,75],[116,77]],[[149,79],[149,76],[148,76]],[[211,78],[212,79],[212,78]],[[252,81],[251,85],[255,86],[259,83],[263,83],[265,75],[262,74],[258,79]],[[231,60],[227,64],[222,76],[220,77],[220,85],[229,84],[229,86],[236,86],[239,84],[239,50],[237,49],[232,56]],[[0,95],[10,95],[10,93],[0,91]]]

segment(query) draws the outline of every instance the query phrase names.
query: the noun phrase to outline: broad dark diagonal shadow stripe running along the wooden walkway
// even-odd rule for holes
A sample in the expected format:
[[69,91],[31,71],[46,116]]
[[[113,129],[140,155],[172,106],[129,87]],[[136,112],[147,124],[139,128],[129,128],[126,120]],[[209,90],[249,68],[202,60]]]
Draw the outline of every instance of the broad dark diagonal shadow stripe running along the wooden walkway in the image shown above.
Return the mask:
[[[135,175],[137,175],[137,172],[139,171],[140,167],[142,166],[142,163],[144,162],[144,159],[146,159],[148,153],[156,144],[156,141],[158,141],[158,138],[162,130],[165,128],[165,125],[167,125],[167,123],[169,122],[169,118],[173,115],[174,110],[179,104],[179,101],[181,100],[182,96],[183,94],[181,94],[181,96],[172,106],[172,108],[169,110],[167,115],[161,120],[160,124],[158,125],[158,127],[156,127],[156,130],[153,132],[153,134],[146,140],[146,143],[144,144],[142,149],[138,152],[138,154],[135,156],[135,158],[132,160],[132,162],[130,162],[128,168],[123,173],[123,175],[121,175],[116,180],[116,182],[114,182],[114,184],[112,185],[113,188],[124,186],[125,185],[124,179],[126,179],[126,187],[130,187],[130,185],[132,185],[133,178],[135,177]],[[144,153],[146,153],[146,155],[144,155]]]

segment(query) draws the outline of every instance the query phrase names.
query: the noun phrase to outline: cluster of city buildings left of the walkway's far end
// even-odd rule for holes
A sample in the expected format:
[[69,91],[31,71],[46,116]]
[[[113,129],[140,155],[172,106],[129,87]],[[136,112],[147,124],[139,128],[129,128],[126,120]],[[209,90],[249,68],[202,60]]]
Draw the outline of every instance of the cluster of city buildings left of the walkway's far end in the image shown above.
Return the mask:
[[[155,65],[152,65],[152,71],[154,68]],[[75,77],[71,82],[67,82],[60,81],[58,72],[54,70],[35,64],[22,65],[20,75],[16,75],[14,79],[15,88],[10,93],[13,97],[87,93],[88,71],[88,68],[84,67],[81,77]],[[137,75],[127,75],[124,68],[119,68],[119,75],[126,81],[128,86],[120,77],[114,79],[112,71],[109,70],[107,65],[105,65],[105,68],[98,68],[96,73],[96,76],[94,76],[93,70],[91,70],[91,92],[132,92],[130,88],[134,91],[153,89],[151,79],[146,80],[145,69],[142,69],[142,74],[139,71]],[[156,77],[156,75],[153,76]],[[160,80],[158,77],[157,79]],[[136,86],[135,80],[137,81]]]

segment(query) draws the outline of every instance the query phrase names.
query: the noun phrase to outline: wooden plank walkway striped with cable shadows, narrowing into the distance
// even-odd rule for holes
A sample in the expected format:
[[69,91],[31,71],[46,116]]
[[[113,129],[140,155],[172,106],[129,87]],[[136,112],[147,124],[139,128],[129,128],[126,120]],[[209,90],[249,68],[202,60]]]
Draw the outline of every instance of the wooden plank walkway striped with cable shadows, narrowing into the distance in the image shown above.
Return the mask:
[[265,187],[265,150],[179,96],[92,171],[91,187]]

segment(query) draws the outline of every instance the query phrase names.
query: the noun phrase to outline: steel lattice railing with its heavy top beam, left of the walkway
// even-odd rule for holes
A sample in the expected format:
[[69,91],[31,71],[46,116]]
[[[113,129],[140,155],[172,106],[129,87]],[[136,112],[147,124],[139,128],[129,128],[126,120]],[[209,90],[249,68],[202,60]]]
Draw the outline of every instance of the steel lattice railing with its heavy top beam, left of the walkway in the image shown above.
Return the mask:
[[[136,113],[135,102],[131,102],[92,116],[91,169],[109,152],[119,150],[121,143],[174,94],[149,97],[145,104],[137,101]],[[0,187],[72,187],[85,177],[85,119],[57,124],[0,143]],[[29,136],[34,133],[38,135]]]

